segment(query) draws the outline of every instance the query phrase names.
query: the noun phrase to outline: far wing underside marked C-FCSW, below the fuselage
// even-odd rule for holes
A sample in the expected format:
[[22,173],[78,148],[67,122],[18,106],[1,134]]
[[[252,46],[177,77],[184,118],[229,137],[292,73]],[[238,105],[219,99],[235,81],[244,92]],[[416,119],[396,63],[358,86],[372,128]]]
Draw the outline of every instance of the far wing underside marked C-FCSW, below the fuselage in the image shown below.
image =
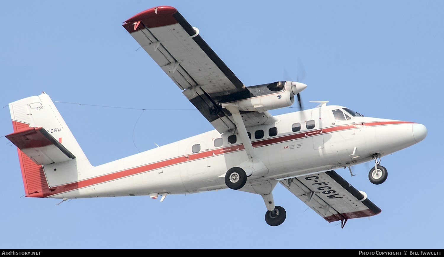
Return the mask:
[[381,212],[360,191],[335,171],[320,172],[279,181],[326,221],[370,217]]

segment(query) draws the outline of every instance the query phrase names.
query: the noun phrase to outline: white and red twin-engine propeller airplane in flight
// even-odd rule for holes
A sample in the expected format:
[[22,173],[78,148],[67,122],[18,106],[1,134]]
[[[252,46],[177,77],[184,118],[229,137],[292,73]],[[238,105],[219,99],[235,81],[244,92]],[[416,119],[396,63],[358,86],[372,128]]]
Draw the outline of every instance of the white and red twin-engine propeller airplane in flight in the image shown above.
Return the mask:
[[[306,84],[245,86],[173,7],[147,9],[123,28],[182,90],[214,130],[106,164],[92,166],[47,93],[9,104],[26,197],[79,199],[167,195],[232,189],[260,195],[265,220],[281,225],[274,202],[280,183],[328,222],[381,212],[334,169],[374,161],[373,184],[384,183],[381,158],[424,140],[415,122],[364,117],[328,101],[301,108]],[[293,105],[301,110],[273,116]],[[353,175],[353,173],[352,173]]]

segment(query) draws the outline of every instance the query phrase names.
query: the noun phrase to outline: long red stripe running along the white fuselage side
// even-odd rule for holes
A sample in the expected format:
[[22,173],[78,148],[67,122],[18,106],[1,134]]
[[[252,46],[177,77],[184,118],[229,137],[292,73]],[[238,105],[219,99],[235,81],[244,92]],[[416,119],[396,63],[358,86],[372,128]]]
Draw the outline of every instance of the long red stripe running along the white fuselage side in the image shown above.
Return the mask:
[[[301,139],[301,138],[305,138],[305,137],[316,136],[319,134],[344,131],[347,129],[360,128],[360,127],[362,128],[362,127],[368,127],[368,126],[395,125],[395,124],[412,124],[412,122],[377,121],[377,122],[368,122],[368,123],[353,123],[353,124],[339,125],[339,126],[334,126],[334,127],[329,127],[329,128],[310,130],[310,131],[305,131],[305,132],[286,135],[286,136],[280,136],[280,137],[275,137],[275,138],[270,138],[270,139],[265,139],[265,140],[254,141],[254,142],[252,142],[252,144],[253,144],[254,148],[257,148],[257,147],[262,147],[262,146],[266,146],[266,145],[282,143],[282,142],[289,141],[289,140],[296,140],[296,139]],[[190,154],[190,155],[186,155],[186,156],[174,157],[174,158],[171,158],[168,160],[162,160],[162,161],[155,162],[152,164],[146,164],[146,165],[143,165],[140,167],[134,167],[134,168],[130,168],[130,169],[123,170],[123,171],[115,171],[110,174],[100,175],[98,177],[84,179],[84,180],[81,180],[78,182],[57,186],[55,189],[52,188],[53,191],[41,192],[41,194],[40,194],[41,196],[38,196],[38,197],[48,197],[51,195],[58,195],[63,192],[72,191],[72,190],[76,190],[76,189],[83,188],[83,187],[93,186],[93,185],[96,185],[99,183],[109,182],[109,181],[112,181],[115,179],[122,179],[122,178],[125,178],[128,176],[131,176],[131,175],[137,175],[137,174],[141,174],[144,172],[153,171],[153,170],[156,170],[159,168],[164,168],[164,167],[168,167],[168,166],[172,166],[172,165],[176,165],[176,164],[181,164],[181,163],[185,163],[187,161],[199,160],[199,159],[207,158],[210,156],[226,154],[229,152],[242,151],[244,149],[245,148],[242,144],[238,144],[238,145],[233,145],[233,146],[228,146],[228,147],[223,147],[223,148],[217,148],[217,149],[213,149],[213,150],[209,150],[209,151],[205,151],[205,152],[198,152],[198,153],[194,153],[194,154]]]

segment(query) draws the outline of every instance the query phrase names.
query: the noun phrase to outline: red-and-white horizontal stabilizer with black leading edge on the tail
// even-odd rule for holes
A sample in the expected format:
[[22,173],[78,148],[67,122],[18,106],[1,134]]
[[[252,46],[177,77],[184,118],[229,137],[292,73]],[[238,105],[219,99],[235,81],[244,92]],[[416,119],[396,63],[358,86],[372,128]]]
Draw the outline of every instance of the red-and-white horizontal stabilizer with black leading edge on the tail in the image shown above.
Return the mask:
[[41,127],[14,132],[6,138],[39,165],[75,159],[71,152]]

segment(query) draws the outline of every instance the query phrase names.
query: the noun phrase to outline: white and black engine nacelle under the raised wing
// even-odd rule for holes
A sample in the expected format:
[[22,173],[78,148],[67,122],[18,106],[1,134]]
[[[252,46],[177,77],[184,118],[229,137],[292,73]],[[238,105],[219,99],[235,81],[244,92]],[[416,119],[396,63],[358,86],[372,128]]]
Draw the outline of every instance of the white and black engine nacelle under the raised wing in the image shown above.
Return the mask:
[[265,112],[288,107],[294,103],[294,95],[307,87],[304,83],[283,81],[247,87],[254,97],[225,103],[234,105],[241,111]]

